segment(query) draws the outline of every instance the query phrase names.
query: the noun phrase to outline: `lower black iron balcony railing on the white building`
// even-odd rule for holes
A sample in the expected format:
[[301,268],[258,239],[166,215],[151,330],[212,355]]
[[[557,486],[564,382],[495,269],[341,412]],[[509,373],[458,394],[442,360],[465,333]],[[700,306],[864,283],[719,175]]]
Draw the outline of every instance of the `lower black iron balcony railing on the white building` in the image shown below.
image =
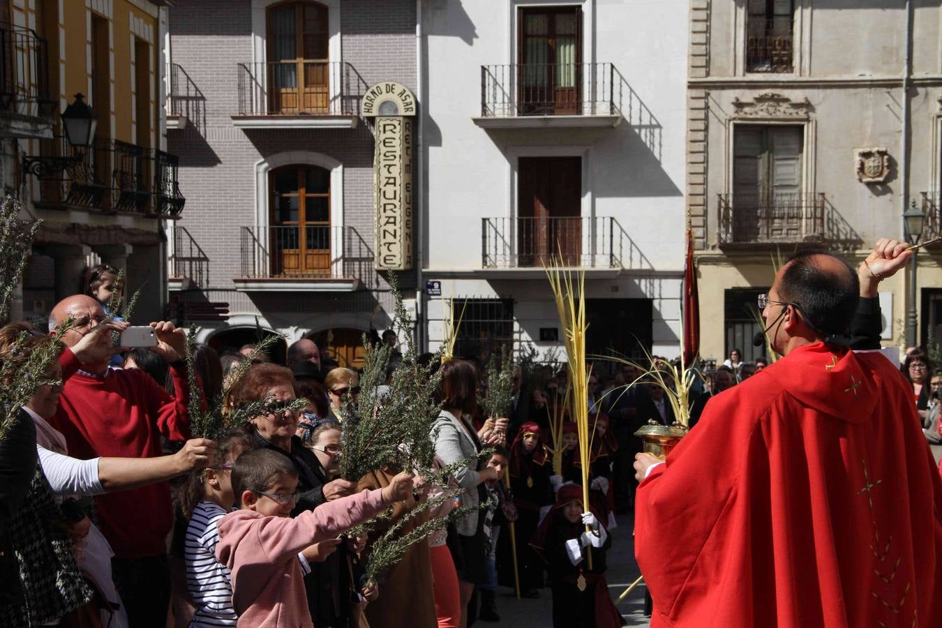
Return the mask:
[[542,268],[555,258],[563,266],[650,266],[614,217],[481,218],[481,266]]

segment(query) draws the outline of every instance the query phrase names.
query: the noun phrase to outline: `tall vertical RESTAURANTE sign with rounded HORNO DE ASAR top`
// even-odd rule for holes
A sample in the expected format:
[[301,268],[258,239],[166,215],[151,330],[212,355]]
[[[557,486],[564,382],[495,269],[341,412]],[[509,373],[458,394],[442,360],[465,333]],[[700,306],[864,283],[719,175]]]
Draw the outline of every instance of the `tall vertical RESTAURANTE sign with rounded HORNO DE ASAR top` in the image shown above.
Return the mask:
[[375,118],[373,202],[376,211],[374,266],[409,270],[413,266],[412,92],[392,81],[366,91],[361,113]]

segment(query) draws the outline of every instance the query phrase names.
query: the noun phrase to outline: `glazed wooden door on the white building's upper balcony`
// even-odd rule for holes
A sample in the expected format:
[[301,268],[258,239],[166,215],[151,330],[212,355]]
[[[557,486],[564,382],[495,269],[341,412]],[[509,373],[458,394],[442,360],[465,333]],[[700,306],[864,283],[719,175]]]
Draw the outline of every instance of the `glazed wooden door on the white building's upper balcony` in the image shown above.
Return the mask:
[[582,8],[521,8],[520,113],[581,113]]

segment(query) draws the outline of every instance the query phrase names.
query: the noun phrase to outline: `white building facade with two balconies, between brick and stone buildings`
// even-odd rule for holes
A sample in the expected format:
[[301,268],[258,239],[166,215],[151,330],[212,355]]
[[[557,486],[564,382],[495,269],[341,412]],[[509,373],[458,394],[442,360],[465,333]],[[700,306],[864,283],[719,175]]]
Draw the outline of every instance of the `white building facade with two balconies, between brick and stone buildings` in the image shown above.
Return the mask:
[[[688,3],[441,2],[421,17],[417,208],[431,350],[562,345],[544,265],[585,270],[588,351],[674,357]],[[682,34],[677,36],[677,34]]]

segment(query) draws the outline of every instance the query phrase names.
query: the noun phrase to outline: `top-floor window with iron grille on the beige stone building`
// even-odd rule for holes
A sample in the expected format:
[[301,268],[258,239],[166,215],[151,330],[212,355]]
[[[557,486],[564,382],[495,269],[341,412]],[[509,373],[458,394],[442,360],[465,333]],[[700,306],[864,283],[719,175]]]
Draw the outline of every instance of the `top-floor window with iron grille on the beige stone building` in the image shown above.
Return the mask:
[[749,0],[746,72],[793,72],[794,0]]

